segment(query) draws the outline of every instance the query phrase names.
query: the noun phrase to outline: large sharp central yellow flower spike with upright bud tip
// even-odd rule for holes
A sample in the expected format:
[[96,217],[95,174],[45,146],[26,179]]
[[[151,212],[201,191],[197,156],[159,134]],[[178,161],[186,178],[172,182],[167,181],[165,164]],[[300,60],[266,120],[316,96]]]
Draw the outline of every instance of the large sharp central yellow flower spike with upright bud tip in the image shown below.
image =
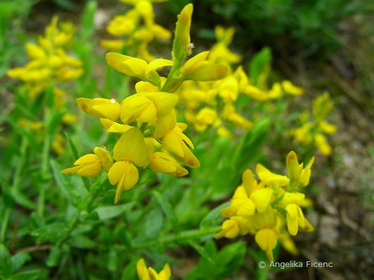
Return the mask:
[[[192,4],[187,5],[178,18],[173,43],[173,60],[145,60],[107,53],[107,62],[116,71],[140,79],[135,85],[136,93],[123,99],[76,100],[79,108],[91,116],[100,118],[107,132],[119,135],[113,158],[103,148],[95,148],[93,154],[84,155],[74,165],[62,172],[81,176],[97,176],[102,169],[108,172],[110,183],[117,184],[115,202],[122,190],[129,190],[138,182],[137,167],[150,167],[154,172],[185,176],[188,167],[200,166],[190,151],[192,141],[183,133],[185,123],[178,123],[174,107],[178,94],[173,94],[184,80],[218,80],[227,73],[227,66],[207,62],[199,54],[182,64],[189,53],[189,28]],[[196,59],[197,57],[197,59]],[[167,78],[157,70],[172,66]],[[115,162],[114,162],[115,161]],[[114,162],[114,163],[113,163]]]

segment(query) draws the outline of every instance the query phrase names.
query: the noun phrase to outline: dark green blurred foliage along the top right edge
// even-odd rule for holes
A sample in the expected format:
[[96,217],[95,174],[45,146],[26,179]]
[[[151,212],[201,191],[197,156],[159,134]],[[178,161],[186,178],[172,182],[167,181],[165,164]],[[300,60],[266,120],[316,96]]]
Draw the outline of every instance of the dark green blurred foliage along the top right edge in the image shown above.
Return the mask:
[[[187,0],[169,1],[174,13]],[[363,0],[199,0],[195,17],[203,18],[202,27],[233,26],[236,43],[241,48],[263,45],[276,53],[318,57],[334,52],[340,46],[340,31],[349,18],[369,13],[370,4]],[[337,11],[339,11],[337,13]],[[211,15],[211,16],[206,16]],[[200,31],[209,36],[207,31]],[[239,47],[240,48],[240,47]]]

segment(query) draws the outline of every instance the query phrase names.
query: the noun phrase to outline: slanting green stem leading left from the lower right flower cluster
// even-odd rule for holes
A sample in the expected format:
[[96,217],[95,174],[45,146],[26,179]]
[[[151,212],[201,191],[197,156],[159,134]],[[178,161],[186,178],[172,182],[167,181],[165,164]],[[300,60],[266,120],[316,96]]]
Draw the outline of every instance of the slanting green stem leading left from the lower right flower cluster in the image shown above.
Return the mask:
[[219,232],[221,226],[216,226],[213,228],[204,228],[203,230],[187,230],[185,232],[180,232],[178,235],[168,235],[166,237],[161,237],[157,240],[147,241],[140,244],[134,244],[133,248],[147,248],[149,246],[154,246],[156,244],[166,244],[175,241],[184,241],[187,239],[196,239],[199,237],[204,237],[207,235],[212,235],[213,233]]

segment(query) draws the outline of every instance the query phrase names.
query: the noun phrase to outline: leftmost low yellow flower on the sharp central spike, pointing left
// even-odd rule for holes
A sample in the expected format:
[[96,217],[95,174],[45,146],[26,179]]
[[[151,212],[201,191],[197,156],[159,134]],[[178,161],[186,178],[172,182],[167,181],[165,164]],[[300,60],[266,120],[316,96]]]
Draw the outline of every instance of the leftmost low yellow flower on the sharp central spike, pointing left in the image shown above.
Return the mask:
[[62,170],[63,174],[78,174],[79,176],[95,177],[100,174],[101,170],[104,169],[108,172],[112,167],[113,160],[109,155],[109,152],[105,148],[96,147],[93,149],[93,153],[82,156],[74,165],[76,167],[70,167]]

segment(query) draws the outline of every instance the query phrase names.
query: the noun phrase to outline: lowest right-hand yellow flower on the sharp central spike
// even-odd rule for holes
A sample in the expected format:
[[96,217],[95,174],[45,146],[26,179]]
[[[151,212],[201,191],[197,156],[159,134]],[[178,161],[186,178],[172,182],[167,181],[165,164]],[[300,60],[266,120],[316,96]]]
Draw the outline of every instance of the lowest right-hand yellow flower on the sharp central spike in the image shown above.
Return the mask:
[[181,167],[170,155],[161,152],[156,152],[152,155],[149,167],[154,172],[171,174],[178,177],[188,174],[187,169]]

